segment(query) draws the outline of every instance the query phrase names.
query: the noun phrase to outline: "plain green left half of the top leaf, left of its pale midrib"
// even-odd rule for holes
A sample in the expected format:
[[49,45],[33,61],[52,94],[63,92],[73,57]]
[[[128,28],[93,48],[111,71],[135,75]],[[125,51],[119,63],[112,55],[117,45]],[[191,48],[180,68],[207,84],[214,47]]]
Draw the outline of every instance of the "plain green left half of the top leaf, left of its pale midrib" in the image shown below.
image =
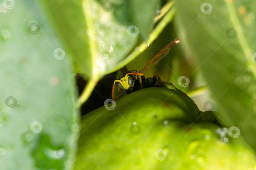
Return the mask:
[[[51,20],[53,28],[64,40],[64,50],[70,49],[75,71],[92,75],[92,60],[90,54],[89,35],[92,32],[88,28],[84,16],[82,1],[40,1],[38,2],[48,14],[44,20]],[[41,5],[43,4],[43,5]],[[44,22],[44,21],[43,21]]]

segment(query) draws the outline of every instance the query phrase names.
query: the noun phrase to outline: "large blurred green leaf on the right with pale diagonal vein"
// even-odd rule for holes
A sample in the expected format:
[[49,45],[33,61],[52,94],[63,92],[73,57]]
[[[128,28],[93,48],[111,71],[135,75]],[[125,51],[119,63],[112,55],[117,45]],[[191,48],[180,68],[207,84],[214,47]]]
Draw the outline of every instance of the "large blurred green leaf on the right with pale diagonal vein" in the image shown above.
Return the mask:
[[[255,145],[255,1],[179,1],[175,24],[185,53],[201,70],[220,117]],[[184,10],[186,9],[186,10]]]

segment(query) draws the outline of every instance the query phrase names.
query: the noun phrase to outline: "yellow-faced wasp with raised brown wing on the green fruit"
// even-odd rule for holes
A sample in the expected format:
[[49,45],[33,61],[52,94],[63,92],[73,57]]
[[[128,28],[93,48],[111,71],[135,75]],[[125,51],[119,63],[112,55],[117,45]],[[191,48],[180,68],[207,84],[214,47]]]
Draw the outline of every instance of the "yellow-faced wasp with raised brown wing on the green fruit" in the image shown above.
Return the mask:
[[[126,73],[121,76],[118,80],[114,81],[113,87],[112,87],[112,99],[115,100],[115,83],[118,83],[118,98],[121,94],[121,89],[125,90],[127,94],[140,90],[142,88],[148,88],[148,87],[162,87],[166,88],[166,85],[170,85],[173,87],[175,90],[180,91],[183,93],[181,90],[176,88],[173,83],[171,82],[165,82],[162,81],[157,72],[154,72],[153,77],[145,78],[143,72],[147,69],[150,69],[154,65],[156,65],[162,58],[164,58],[170,51],[171,48],[173,48],[176,44],[180,43],[180,38],[174,39],[171,43],[169,43],[165,48],[163,48],[156,56],[149,61],[149,63],[141,70],[141,71],[127,71]],[[123,71],[124,72],[124,68]],[[186,93],[184,93],[185,96]]]

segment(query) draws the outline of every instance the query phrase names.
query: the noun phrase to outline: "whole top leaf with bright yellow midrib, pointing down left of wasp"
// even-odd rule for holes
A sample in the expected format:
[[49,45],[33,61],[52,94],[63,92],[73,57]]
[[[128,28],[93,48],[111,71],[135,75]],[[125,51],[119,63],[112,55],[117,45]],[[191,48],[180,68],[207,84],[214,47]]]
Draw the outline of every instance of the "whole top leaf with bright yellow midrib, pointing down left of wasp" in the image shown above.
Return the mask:
[[[74,56],[75,69],[92,76],[112,70],[153,28],[158,1],[44,1],[49,17]],[[145,12],[146,11],[146,12]],[[144,20],[144,22],[141,21]]]

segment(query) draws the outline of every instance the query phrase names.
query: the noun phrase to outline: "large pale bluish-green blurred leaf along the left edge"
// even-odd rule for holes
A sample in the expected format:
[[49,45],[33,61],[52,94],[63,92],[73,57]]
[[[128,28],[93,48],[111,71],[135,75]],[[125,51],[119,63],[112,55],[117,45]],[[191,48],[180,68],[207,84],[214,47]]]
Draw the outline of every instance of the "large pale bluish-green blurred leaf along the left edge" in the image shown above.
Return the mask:
[[15,1],[0,13],[1,169],[70,169],[75,161],[70,52],[58,49],[65,46],[39,8]]

